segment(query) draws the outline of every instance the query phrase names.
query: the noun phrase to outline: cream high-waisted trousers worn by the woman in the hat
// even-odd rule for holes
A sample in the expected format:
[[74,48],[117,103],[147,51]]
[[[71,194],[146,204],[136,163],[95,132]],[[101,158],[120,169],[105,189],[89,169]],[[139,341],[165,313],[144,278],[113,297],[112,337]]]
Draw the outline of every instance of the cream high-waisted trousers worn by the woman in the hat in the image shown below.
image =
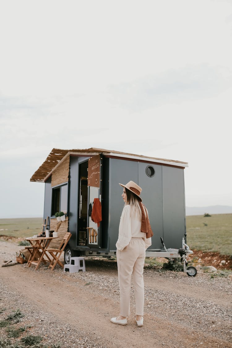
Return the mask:
[[144,282],[143,267],[145,260],[145,242],[143,238],[131,238],[129,245],[122,251],[117,250],[118,278],[120,288],[120,315],[130,314],[131,276],[135,287],[136,315],[143,315]]

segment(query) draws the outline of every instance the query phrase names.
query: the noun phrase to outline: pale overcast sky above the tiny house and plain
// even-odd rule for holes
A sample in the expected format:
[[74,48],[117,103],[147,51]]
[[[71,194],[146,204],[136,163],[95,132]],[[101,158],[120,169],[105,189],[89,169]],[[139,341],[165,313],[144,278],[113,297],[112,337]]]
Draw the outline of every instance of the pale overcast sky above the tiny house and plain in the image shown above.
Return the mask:
[[232,205],[232,1],[0,2],[0,218],[43,215],[53,148],[184,161],[188,207]]

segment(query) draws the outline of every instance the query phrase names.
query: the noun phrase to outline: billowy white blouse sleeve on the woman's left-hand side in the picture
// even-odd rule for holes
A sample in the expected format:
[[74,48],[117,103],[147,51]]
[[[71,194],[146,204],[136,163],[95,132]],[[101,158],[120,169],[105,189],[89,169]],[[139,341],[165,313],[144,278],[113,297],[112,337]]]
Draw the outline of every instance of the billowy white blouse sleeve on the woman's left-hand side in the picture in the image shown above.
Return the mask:
[[123,208],[120,223],[119,223],[119,235],[116,247],[122,251],[129,243],[131,239],[131,221],[130,221],[130,206],[126,205]]

